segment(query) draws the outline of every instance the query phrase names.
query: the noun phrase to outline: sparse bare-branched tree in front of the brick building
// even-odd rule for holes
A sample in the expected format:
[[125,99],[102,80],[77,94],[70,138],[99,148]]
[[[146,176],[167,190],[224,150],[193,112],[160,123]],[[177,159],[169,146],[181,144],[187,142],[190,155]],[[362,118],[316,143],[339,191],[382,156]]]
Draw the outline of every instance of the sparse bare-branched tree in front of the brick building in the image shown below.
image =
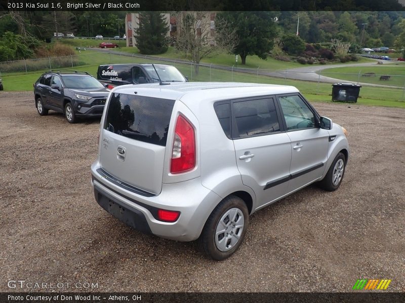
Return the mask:
[[[176,16],[176,49],[190,54],[198,74],[201,59],[213,57],[221,52],[232,53],[237,38],[235,29],[222,17],[213,18],[214,13],[182,12]],[[214,20],[212,20],[214,19]]]

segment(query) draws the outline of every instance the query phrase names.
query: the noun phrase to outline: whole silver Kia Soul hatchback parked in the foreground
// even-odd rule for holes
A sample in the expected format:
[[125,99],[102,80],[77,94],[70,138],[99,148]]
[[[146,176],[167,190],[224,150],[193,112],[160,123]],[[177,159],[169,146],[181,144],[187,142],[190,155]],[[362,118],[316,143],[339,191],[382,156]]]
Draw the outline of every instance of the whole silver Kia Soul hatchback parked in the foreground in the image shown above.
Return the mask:
[[297,88],[161,84],[111,90],[91,167],[97,203],[133,228],[198,239],[223,260],[252,213],[313,182],[342,182],[347,132]]

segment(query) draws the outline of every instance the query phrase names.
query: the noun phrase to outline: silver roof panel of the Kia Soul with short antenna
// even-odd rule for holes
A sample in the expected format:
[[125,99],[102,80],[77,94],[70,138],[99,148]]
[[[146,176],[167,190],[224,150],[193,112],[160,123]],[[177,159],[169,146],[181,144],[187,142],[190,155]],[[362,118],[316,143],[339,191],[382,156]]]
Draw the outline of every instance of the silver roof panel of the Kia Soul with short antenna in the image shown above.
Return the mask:
[[[204,92],[202,92],[204,91]],[[159,83],[129,84],[115,87],[116,93],[134,94],[165,99],[181,99],[185,103],[195,103],[202,99],[234,99],[250,96],[296,93],[294,86],[241,82],[176,82],[169,85]]]

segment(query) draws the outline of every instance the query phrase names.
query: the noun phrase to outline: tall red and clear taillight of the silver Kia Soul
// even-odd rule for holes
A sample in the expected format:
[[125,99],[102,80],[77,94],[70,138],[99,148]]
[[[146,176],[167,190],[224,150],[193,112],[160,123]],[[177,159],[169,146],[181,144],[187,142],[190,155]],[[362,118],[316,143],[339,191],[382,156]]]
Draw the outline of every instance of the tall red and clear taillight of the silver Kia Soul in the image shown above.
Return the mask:
[[195,167],[195,136],[194,128],[182,116],[177,118],[173,140],[172,161],[170,172],[183,173]]

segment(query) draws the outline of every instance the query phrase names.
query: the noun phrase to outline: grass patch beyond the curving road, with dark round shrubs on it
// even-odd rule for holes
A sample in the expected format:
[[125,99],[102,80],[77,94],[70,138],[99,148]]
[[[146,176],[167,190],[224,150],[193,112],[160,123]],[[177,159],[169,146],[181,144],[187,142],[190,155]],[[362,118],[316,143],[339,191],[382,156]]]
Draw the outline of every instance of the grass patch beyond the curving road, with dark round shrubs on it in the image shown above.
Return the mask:
[[[375,73],[376,75],[365,76],[366,73]],[[376,64],[373,66],[337,67],[322,70],[319,74],[350,82],[387,84],[403,87],[405,84],[405,62],[397,61],[392,64]],[[390,75],[391,77],[389,80],[380,80],[381,75]]]

